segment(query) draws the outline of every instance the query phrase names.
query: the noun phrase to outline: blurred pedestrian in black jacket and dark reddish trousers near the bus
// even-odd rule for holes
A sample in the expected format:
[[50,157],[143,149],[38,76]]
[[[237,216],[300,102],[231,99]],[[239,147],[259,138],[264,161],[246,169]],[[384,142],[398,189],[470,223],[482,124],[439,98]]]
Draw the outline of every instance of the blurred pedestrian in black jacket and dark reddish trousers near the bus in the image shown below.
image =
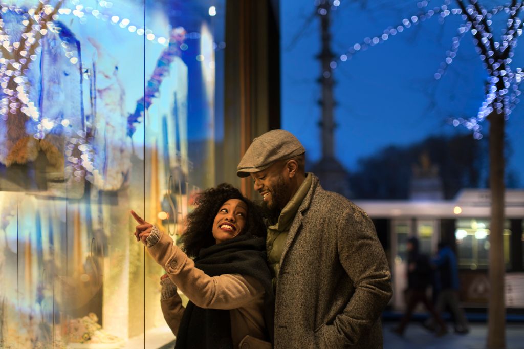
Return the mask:
[[419,253],[419,241],[416,237],[408,239],[408,290],[407,290],[407,307],[400,325],[393,329],[399,335],[403,335],[406,330],[411,315],[419,302],[422,302],[426,309],[433,315],[436,323],[439,324],[439,330],[436,335],[442,336],[447,333],[446,324],[442,321],[439,313],[433,308],[433,304],[426,296],[426,289],[431,282],[431,264],[429,257]]

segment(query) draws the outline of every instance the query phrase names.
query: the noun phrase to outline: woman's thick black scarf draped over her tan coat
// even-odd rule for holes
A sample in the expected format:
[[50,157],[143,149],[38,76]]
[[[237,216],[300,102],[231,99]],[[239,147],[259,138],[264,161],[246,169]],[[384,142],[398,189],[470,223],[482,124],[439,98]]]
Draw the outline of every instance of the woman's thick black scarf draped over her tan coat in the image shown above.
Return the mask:
[[[241,235],[200,250],[195,267],[209,276],[240,274],[256,278],[264,287],[267,341],[273,342],[275,296],[266,263],[264,238]],[[189,302],[180,322],[175,349],[233,348],[229,310],[203,309]],[[234,331],[234,329],[233,329]]]

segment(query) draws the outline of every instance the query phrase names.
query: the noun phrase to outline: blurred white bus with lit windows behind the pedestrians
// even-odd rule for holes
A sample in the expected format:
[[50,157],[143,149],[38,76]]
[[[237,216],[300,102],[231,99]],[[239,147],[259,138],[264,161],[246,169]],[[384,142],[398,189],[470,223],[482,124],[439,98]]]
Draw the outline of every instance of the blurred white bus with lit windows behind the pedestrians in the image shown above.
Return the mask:
[[[457,255],[463,307],[487,309],[489,279],[489,189],[464,189],[453,200],[354,200],[372,218],[390,264],[394,310],[405,307],[406,242],[420,241],[422,253],[434,256],[446,241]],[[524,310],[524,190],[505,192],[504,261],[506,307]],[[510,311],[508,311],[510,313]]]

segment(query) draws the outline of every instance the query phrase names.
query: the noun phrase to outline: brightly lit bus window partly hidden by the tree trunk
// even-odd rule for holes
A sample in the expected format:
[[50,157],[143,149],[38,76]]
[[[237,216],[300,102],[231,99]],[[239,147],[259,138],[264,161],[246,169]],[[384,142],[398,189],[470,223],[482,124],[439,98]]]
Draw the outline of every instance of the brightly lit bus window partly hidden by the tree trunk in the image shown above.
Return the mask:
[[[455,238],[461,268],[487,268],[489,258],[489,220],[460,219],[456,221]],[[511,230],[508,220],[504,223],[504,263],[510,266]]]

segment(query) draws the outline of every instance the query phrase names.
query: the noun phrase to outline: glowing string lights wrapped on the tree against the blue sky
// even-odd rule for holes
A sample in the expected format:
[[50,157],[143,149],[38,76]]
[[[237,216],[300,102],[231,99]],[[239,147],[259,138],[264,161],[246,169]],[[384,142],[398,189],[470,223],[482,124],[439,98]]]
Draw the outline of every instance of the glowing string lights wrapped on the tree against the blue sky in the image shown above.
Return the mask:
[[[482,126],[479,125],[480,122],[492,113],[508,119],[512,110],[520,102],[519,85],[524,78],[524,72],[520,67],[512,70],[510,63],[514,56],[513,50],[517,46],[517,39],[522,35],[523,21],[518,15],[521,13],[523,2],[499,5],[490,10],[483,8],[476,0],[470,1],[470,4],[467,5],[464,4],[464,1],[457,0],[458,8],[450,8],[450,2],[450,0],[445,0],[441,6],[431,9],[428,9],[429,2],[427,0],[418,2],[417,6],[421,9],[419,14],[402,19],[397,26],[386,28],[380,35],[373,38],[366,37],[361,42],[354,43],[346,52],[338,56],[337,61],[346,62],[357,52],[383,43],[391,36],[395,36],[412,25],[417,25],[432,17],[437,16],[440,23],[443,23],[450,15],[461,16],[465,23],[457,29],[457,35],[452,39],[451,48],[446,51],[446,57],[436,70],[434,79],[440,80],[443,77],[457,55],[461,39],[467,32],[471,32],[477,53],[489,75],[487,92],[477,115],[469,118],[452,119],[452,125],[455,127],[464,126],[473,132],[474,138],[481,139]],[[498,13],[509,15],[500,41],[496,41],[492,28],[492,19]],[[336,61],[333,63],[335,64],[332,64],[331,67],[335,69]]]

